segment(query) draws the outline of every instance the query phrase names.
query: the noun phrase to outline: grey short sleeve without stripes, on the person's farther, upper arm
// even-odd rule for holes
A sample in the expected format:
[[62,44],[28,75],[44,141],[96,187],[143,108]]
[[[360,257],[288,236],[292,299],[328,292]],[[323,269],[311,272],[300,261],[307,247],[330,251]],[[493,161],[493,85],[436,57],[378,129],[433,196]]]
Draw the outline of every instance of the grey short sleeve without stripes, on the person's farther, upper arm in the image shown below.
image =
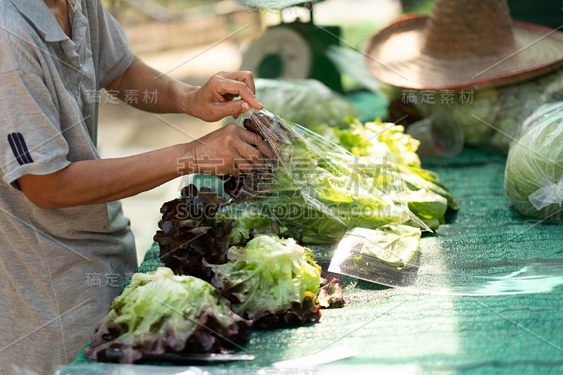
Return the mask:
[[[100,89],[115,81],[131,65],[134,53],[118,21],[97,0]],[[94,43],[95,36],[92,35]]]

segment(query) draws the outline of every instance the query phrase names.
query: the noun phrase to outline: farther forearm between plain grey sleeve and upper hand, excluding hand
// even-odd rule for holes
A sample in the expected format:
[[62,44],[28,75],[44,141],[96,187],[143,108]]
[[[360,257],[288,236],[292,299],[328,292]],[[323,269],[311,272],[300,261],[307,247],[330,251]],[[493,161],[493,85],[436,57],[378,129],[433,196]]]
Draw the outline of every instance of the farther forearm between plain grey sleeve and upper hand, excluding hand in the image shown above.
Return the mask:
[[152,113],[188,113],[189,96],[198,88],[163,75],[137,57],[106,87],[125,103]]

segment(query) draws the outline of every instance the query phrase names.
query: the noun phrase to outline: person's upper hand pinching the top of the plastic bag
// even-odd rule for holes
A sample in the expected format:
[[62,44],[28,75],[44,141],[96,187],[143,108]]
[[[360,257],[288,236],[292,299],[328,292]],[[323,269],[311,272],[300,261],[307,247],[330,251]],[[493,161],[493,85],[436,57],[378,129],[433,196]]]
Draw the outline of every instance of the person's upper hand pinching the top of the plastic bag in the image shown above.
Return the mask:
[[[186,113],[208,122],[231,115],[236,118],[251,107],[264,108],[255,92],[251,72],[219,72],[189,94]],[[234,101],[236,96],[241,96],[241,100]]]

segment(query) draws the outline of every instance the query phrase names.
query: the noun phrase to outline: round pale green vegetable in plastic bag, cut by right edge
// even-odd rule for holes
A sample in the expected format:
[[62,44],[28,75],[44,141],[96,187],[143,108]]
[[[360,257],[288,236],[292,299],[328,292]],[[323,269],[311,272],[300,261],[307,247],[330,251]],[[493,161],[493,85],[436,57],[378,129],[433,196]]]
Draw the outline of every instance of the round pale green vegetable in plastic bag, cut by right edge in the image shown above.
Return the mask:
[[563,102],[541,106],[508,153],[505,192],[524,215],[563,220]]

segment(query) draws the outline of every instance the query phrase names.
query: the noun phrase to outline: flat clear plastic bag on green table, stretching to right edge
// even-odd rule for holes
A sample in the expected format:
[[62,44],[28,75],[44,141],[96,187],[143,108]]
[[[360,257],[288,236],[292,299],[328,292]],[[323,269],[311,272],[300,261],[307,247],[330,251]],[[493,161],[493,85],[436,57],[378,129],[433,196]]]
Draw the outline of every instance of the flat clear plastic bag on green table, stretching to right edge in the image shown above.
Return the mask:
[[417,293],[450,295],[550,293],[563,285],[558,259],[480,259],[479,247],[460,257],[453,256],[454,249],[423,242],[419,229],[404,225],[350,229],[334,251],[329,272]]

